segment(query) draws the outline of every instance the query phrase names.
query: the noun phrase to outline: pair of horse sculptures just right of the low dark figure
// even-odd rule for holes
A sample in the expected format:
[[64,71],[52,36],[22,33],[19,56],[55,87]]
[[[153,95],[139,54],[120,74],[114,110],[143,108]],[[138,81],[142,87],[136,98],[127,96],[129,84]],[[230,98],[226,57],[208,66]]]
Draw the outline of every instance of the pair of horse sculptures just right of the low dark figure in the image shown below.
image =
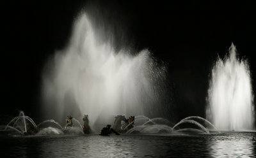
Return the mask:
[[[118,133],[126,133],[127,131],[129,131],[129,129],[134,127],[134,119],[134,116],[126,119],[124,115],[117,115],[115,117],[113,129],[115,129],[115,131],[117,131]],[[124,124],[122,124],[122,121],[124,121]]]

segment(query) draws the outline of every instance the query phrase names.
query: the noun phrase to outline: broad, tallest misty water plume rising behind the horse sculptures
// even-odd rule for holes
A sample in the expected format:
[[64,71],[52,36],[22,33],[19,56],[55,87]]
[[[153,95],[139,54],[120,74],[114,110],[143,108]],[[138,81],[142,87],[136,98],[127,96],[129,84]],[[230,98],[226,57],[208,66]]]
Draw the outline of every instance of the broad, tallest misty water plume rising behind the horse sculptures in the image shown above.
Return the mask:
[[148,50],[136,55],[132,48],[116,52],[98,32],[102,30],[95,29],[83,13],[67,47],[47,63],[42,91],[45,115],[63,121],[68,114],[85,113],[94,124],[106,123],[108,116],[112,123],[113,115],[157,111],[164,66],[158,66]]

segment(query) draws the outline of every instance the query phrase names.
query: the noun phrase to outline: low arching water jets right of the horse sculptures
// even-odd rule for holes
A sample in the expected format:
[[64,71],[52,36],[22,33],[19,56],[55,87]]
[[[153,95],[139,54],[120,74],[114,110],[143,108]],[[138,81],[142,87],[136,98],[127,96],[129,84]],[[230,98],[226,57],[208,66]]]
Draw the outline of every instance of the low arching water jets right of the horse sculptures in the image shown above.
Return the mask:
[[219,132],[209,120],[198,116],[186,117],[177,124],[172,124],[164,118],[149,119],[139,115],[135,117],[134,122],[135,126],[127,131],[127,134],[209,134]]

